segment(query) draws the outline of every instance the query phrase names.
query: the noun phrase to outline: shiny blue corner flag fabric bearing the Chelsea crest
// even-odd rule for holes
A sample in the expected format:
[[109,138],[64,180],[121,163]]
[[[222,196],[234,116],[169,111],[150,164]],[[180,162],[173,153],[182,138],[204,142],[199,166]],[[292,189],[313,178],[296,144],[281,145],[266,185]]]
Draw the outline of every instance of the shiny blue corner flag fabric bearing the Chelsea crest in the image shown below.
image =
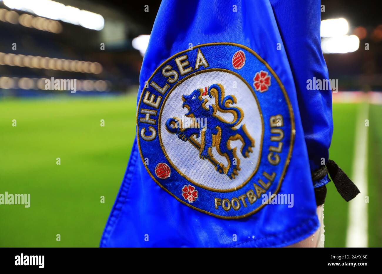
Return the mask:
[[311,171],[332,121],[330,90],[306,89],[327,79],[308,2],[162,1],[100,246],[286,246],[316,231]]

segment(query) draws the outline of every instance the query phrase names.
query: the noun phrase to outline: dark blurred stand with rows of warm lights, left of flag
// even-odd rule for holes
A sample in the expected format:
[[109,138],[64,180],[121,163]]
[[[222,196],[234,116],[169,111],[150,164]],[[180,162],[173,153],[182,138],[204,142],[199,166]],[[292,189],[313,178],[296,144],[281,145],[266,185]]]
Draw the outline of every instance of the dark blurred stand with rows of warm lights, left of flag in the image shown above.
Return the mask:
[[77,79],[79,94],[119,94],[139,84],[142,56],[131,41],[145,29],[118,8],[60,1],[102,14],[104,26],[93,30],[19,10],[17,2],[0,0],[0,96],[70,93],[46,91],[43,80],[51,77]]

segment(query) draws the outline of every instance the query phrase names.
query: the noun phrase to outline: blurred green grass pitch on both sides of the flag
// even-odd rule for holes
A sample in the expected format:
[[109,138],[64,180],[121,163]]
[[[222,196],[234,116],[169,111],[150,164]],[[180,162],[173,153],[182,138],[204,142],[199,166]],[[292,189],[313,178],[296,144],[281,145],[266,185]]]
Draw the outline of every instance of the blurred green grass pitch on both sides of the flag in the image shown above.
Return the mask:
[[[30,208],[0,205],[1,247],[99,245],[133,143],[135,105],[135,96],[0,101],[0,193],[31,194]],[[348,174],[358,107],[333,107],[330,158]],[[370,108],[370,120],[375,119],[369,131],[370,246],[382,246],[380,110]],[[325,246],[344,246],[347,203],[332,183],[324,212]]]

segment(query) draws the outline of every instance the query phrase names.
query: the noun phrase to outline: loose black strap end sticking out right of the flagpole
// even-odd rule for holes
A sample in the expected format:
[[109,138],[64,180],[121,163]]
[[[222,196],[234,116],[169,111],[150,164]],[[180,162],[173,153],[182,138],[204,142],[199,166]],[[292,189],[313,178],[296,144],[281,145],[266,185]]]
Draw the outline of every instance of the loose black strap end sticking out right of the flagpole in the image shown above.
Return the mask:
[[354,185],[348,175],[346,175],[333,160],[329,160],[326,166],[338,193],[340,193],[346,202],[360,193],[357,186]]

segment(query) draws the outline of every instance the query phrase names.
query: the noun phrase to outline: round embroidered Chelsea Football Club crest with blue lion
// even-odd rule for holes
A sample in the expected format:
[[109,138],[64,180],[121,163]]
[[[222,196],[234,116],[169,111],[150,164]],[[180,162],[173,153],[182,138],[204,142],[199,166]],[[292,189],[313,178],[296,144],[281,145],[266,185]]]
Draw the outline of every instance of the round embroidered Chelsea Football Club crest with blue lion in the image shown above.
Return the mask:
[[294,135],[280,79],[239,44],[203,44],[170,57],[138,102],[147,172],[181,203],[220,218],[254,214],[278,192]]

